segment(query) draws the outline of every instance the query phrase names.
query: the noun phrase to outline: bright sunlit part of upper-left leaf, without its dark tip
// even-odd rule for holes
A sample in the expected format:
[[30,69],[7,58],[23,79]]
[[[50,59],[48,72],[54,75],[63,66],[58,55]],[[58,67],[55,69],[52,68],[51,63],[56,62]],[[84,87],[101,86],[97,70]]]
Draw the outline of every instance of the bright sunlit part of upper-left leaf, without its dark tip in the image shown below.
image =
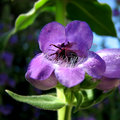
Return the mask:
[[39,0],[34,4],[34,7],[28,13],[19,15],[15,22],[15,30],[23,30],[30,26],[42,11],[40,10],[41,7],[43,7],[43,5],[47,2],[48,0]]

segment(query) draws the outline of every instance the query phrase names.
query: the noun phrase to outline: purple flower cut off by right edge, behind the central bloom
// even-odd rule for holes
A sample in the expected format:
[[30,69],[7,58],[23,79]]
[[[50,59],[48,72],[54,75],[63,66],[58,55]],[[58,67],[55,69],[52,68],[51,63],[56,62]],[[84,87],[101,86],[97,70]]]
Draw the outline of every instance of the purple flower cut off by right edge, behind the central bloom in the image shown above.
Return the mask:
[[108,91],[120,85],[120,49],[103,49],[97,54],[105,61],[106,71],[98,89]]

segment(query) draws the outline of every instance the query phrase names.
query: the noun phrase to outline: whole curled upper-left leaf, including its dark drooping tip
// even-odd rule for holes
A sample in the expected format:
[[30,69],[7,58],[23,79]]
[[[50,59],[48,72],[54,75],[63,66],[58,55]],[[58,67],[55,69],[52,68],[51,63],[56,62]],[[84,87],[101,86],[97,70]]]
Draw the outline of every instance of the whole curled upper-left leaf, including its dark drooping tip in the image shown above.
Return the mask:
[[14,29],[9,32],[6,32],[2,36],[0,36],[0,45],[1,45],[0,50],[5,48],[5,46],[8,43],[8,40],[10,39],[10,37],[13,34],[29,27],[35,21],[36,17],[41,12],[47,10],[47,9],[42,9],[42,8],[45,6],[45,4],[48,1],[49,0],[39,0],[39,1],[35,2],[34,7],[28,13],[20,14],[18,16],[18,18],[16,19],[16,22],[15,22]]

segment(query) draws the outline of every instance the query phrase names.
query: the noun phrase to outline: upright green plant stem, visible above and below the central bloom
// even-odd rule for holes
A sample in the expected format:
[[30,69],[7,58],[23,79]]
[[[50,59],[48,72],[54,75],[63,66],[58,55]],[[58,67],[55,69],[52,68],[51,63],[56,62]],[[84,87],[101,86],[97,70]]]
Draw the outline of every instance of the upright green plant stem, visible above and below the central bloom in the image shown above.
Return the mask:
[[[66,0],[56,0],[56,21],[65,25]],[[64,89],[56,88],[57,97],[66,102],[66,106],[58,110],[58,120],[71,120],[72,105],[66,101]]]

